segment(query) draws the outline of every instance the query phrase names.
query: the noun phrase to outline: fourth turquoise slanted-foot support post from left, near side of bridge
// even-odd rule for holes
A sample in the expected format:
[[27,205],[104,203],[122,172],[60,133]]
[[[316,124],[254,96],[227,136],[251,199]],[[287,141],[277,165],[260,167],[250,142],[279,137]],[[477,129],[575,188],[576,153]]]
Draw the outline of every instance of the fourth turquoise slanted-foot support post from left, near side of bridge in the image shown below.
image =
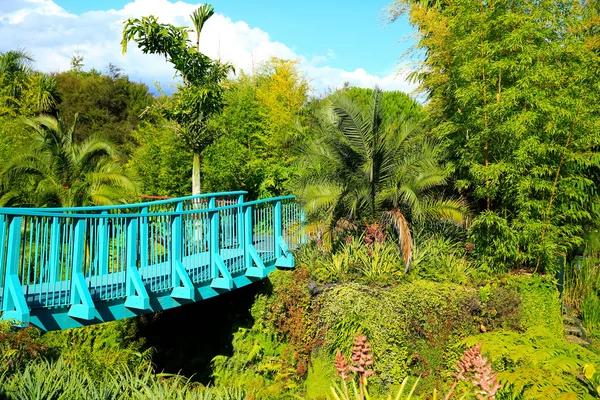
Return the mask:
[[[183,203],[177,203],[175,211],[183,211]],[[183,221],[177,214],[171,222],[171,297],[183,300],[194,300],[194,284],[183,265]]]

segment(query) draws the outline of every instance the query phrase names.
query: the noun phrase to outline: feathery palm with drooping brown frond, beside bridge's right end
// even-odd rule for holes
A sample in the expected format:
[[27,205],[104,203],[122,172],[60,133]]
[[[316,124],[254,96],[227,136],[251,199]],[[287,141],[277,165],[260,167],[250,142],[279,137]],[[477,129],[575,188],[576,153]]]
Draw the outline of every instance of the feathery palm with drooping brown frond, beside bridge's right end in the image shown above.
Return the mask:
[[436,195],[433,189],[449,175],[439,162],[439,146],[418,135],[411,118],[384,123],[381,99],[379,89],[367,107],[343,92],[331,96],[316,118],[319,139],[303,152],[300,197],[309,212],[330,225],[342,217],[391,223],[408,269],[412,238],[407,220],[461,223],[466,206]]

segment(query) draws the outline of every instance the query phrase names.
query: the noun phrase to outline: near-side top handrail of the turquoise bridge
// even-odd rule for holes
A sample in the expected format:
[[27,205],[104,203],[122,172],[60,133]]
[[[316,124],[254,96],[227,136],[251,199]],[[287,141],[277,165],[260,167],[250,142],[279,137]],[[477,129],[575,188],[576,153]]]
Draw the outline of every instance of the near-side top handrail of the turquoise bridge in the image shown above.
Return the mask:
[[[230,192],[230,193],[235,194],[235,192]],[[55,217],[55,218],[82,218],[82,219],[86,219],[86,218],[98,219],[98,218],[162,217],[162,216],[169,216],[169,215],[188,215],[188,214],[211,213],[211,212],[215,212],[215,211],[231,210],[234,208],[254,206],[254,205],[263,204],[263,203],[271,203],[271,202],[279,201],[279,200],[291,200],[291,199],[295,199],[295,198],[296,198],[296,196],[289,195],[289,196],[279,196],[279,197],[272,197],[272,198],[268,198],[268,199],[260,199],[260,200],[253,200],[253,201],[248,201],[248,202],[243,202],[243,203],[230,204],[228,206],[203,208],[203,209],[197,209],[197,210],[160,211],[160,212],[151,212],[151,213],[150,212],[146,213],[146,212],[142,211],[142,212],[135,213],[135,214],[65,214],[65,213],[58,213],[58,212],[46,212],[46,210],[50,210],[47,208],[10,208],[10,207],[5,207],[5,208],[0,208],[0,215]],[[176,201],[175,203],[178,203],[178,202],[179,201]],[[145,204],[149,204],[149,203],[145,203]],[[136,203],[136,205],[137,205],[137,203]],[[72,207],[72,208],[77,209],[77,207]],[[127,207],[121,207],[121,208],[127,208]],[[26,212],[24,212],[24,211],[26,211]]]

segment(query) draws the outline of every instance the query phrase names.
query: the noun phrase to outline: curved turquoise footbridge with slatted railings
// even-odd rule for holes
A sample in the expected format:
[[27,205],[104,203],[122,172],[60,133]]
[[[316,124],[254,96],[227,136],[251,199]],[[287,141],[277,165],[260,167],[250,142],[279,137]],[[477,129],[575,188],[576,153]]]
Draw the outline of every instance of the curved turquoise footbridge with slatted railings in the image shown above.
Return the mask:
[[211,193],[107,207],[0,208],[2,319],[75,328],[200,301],[292,268],[293,196]]

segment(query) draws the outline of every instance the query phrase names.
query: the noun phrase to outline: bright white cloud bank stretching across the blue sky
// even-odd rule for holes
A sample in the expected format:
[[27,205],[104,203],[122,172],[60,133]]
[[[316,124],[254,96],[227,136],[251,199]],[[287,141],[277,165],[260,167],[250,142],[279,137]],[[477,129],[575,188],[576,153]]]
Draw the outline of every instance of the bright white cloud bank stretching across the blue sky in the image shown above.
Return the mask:
[[[105,70],[108,63],[113,63],[134,80],[165,86],[173,82],[175,71],[162,57],[143,54],[133,43],[127,54],[121,54],[123,21],[153,14],[163,23],[189,25],[189,15],[198,6],[183,1],[133,0],[120,10],[74,15],[52,0],[0,0],[0,51],[25,48],[34,56],[36,66],[49,72],[69,69],[70,58],[78,51],[84,55],[86,69]],[[195,34],[191,35],[194,39]],[[344,82],[389,90],[412,89],[404,75],[379,77],[362,68],[331,68],[327,63],[335,58],[334,49],[309,59],[272,40],[267,32],[221,14],[215,14],[205,25],[200,47],[210,57],[230,61],[236,69],[247,72],[271,57],[298,59],[316,93],[341,87]]]

